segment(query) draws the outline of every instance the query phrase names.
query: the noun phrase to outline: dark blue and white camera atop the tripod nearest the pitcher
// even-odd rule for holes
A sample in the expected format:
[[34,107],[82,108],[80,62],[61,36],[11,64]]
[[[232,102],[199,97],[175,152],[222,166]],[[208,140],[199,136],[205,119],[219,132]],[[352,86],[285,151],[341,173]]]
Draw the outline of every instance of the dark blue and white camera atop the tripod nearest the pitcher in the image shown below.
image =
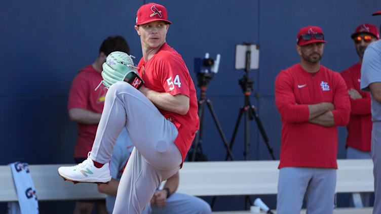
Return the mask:
[[195,58],[195,72],[197,73],[198,86],[206,87],[213,75],[218,72],[219,61],[221,55],[217,54],[216,59],[209,58],[209,53],[205,54],[205,58]]

